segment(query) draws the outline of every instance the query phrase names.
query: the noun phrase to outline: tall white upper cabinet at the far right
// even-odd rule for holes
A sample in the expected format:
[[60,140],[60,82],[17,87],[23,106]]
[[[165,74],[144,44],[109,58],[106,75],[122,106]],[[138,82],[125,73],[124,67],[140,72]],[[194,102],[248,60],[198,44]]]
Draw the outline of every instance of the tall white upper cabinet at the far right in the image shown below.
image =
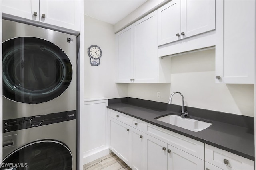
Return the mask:
[[[255,1],[221,0],[216,22],[216,82],[253,84]],[[217,32],[218,31],[218,32]]]

